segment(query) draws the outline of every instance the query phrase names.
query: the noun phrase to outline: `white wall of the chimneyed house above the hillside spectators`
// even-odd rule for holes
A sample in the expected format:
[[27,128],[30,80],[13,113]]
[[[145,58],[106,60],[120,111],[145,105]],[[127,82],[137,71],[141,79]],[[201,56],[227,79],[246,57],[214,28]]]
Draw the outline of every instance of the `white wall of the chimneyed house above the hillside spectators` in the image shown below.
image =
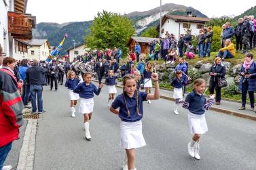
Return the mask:
[[[185,22],[187,23],[187,22]],[[199,23],[192,23],[190,22],[190,29],[192,35],[198,35],[199,29],[196,28],[197,24]],[[166,31],[168,33],[172,33],[175,35],[177,39],[179,39],[180,34],[185,34],[185,28],[183,28],[183,22],[175,22],[175,20],[168,19],[164,24],[162,25],[162,28],[164,28],[164,33],[161,34],[161,37],[164,38]]]

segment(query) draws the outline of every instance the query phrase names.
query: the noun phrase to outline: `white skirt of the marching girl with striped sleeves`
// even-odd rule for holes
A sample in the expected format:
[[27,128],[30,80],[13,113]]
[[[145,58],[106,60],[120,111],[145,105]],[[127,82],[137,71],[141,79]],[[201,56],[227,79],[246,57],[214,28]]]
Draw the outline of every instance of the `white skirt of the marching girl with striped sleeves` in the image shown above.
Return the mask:
[[205,114],[188,114],[189,129],[192,134],[204,134],[208,131]]

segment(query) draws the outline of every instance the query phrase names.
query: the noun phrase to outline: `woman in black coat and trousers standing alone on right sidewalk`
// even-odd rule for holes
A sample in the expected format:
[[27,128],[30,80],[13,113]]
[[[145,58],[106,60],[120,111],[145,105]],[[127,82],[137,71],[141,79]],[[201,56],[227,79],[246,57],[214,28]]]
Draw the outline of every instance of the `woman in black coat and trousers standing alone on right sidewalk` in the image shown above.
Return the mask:
[[214,64],[211,67],[209,75],[211,76],[209,82],[209,91],[210,95],[214,94],[214,89],[216,91],[216,104],[221,104],[221,87],[218,85],[218,81],[221,78],[225,77],[226,69],[225,66],[221,63],[221,58],[215,58]]

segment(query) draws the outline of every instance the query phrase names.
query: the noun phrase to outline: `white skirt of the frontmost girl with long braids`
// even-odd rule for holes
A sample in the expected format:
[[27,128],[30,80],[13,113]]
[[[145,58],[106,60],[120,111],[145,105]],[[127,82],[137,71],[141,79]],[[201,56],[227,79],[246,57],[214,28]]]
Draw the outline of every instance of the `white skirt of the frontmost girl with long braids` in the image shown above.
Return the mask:
[[142,134],[141,121],[120,123],[121,130],[121,146],[125,149],[141,148],[146,146]]

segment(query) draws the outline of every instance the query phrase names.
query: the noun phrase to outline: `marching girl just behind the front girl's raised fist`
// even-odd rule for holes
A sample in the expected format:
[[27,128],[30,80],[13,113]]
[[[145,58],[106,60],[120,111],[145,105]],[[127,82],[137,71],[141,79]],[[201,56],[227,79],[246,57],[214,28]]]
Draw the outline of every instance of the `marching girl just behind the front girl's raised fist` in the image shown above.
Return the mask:
[[[144,87],[146,89],[146,93],[151,93],[152,81],[151,81],[151,74],[153,72],[153,67],[150,62],[146,63],[145,70],[143,72],[144,77]],[[148,104],[151,104],[151,101],[147,101]]]

